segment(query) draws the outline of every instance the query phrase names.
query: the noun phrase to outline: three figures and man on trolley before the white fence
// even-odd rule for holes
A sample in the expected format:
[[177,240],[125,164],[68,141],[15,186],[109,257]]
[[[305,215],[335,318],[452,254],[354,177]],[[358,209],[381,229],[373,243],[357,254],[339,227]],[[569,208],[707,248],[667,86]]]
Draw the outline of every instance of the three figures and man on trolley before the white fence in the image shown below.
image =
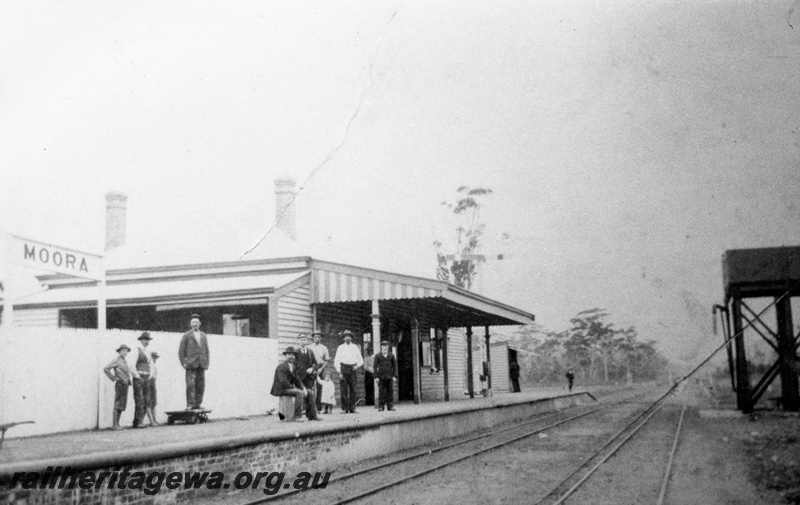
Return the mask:
[[[184,333],[178,348],[178,359],[186,370],[186,410],[202,410],[206,381],[205,371],[209,365],[208,339],[200,331],[200,315],[192,314],[191,330]],[[133,386],[135,405],[133,427],[144,428],[142,424],[145,414],[150,426],[158,426],[155,416],[157,403],[156,393],[156,360],[158,353],[148,349],[153,338],[149,332],[139,336],[139,346],[135,354],[128,358],[131,348],[125,344],[117,348],[117,357],[103,371],[114,382],[114,412],[112,429],[119,430],[120,416],[127,407],[128,388]]]

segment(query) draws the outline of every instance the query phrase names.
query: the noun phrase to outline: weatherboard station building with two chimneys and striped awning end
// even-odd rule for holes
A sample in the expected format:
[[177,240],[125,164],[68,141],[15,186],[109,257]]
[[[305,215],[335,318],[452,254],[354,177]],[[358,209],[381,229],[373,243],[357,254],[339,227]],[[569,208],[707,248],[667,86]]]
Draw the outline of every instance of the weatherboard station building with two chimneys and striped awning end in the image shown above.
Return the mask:
[[[268,247],[272,253],[302,249],[293,240],[293,186],[291,180],[276,181],[279,230]],[[297,346],[300,333],[320,331],[331,357],[347,329],[361,337],[354,342],[364,356],[375,353],[381,340],[391,343],[399,366],[395,394],[400,401],[419,403],[479,393],[479,376],[498,368],[484,365],[493,353],[473,350],[491,349],[493,327],[534,320],[533,314],[447,282],[310,255],[142,259],[125,245],[125,196],[106,198],[109,329],[184,332],[197,312],[208,334],[277,339],[279,352]],[[97,283],[64,275],[38,280],[47,289],[15,302],[15,326],[97,327]],[[329,370],[338,388],[332,363]],[[500,383],[507,384],[507,377]],[[363,378],[358,389],[363,396]]]

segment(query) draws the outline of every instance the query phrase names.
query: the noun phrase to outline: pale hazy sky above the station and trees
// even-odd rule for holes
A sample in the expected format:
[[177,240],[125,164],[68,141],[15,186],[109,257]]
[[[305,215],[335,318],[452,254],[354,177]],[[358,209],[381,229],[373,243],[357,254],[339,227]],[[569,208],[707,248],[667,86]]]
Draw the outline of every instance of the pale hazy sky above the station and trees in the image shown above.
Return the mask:
[[685,361],[721,341],[724,251],[800,244],[797,2],[2,11],[8,233],[102,252],[122,191],[130,243],[239,256],[290,176],[321,259],[433,277],[441,203],[485,187],[483,294],[553,330],[603,308]]

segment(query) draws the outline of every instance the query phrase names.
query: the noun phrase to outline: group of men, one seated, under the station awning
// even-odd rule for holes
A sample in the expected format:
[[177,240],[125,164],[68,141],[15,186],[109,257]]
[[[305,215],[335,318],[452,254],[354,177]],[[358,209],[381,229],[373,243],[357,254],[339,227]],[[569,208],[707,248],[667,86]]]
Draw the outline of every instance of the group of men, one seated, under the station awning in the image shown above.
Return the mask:
[[[300,420],[305,408],[309,421],[319,421],[321,410],[321,381],[318,373],[324,370],[330,361],[328,349],[322,345],[322,333],[312,333],[314,344],[308,345],[308,336],[298,336],[300,348],[286,348],[283,354],[286,360],[275,369],[272,383],[273,396],[292,396],[294,417]],[[342,333],[344,342],[336,349],[333,366],[339,374],[342,411],[347,414],[356,413],[356,372],[364,366],[361,349],[353,343],[353,333],[345,330]],[[397,359],[389,351],[389,342],[381,342],[381,351],[374,356],[374,381],[378,386],[379,410],[394,410],[393,383],[397,381]]]

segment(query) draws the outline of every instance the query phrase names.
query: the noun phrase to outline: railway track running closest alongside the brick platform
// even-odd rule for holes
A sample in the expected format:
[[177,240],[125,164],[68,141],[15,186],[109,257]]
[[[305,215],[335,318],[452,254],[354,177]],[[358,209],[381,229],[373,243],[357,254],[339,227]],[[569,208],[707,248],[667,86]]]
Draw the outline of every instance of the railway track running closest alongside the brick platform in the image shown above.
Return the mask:
[[599,404],[537,416],[525,422],[505,425],[488,432],[371,464],[365,468],[331,478],[324,490],[289,491],[250,501],[247,504],[278,502],[282,504],[330,503],[339,505],[366,502],[370,497],[378,498],[383,493],[396,498],[398,495],[402,495],[403,489],[412,483],[418,484],[436,472],[458,467],[459,464],[463,465],[464,462],[474,461],[481,455],[496,453],[498,450],[526,440],[530,441],[537,435],[546,438],[548,432],[561,426],[580,421],[594,423],[596,421],[591,421],[591,419],[603,414],[608,419],[629,418],[632,415],[631,412],[635,413],[640,410],[640,404],[643,401],[645,404],[650,402],[650,400],[644,400],[644,397],[653,397],[654,395],[651,390],[634,394],[609,395],[602,398]]

